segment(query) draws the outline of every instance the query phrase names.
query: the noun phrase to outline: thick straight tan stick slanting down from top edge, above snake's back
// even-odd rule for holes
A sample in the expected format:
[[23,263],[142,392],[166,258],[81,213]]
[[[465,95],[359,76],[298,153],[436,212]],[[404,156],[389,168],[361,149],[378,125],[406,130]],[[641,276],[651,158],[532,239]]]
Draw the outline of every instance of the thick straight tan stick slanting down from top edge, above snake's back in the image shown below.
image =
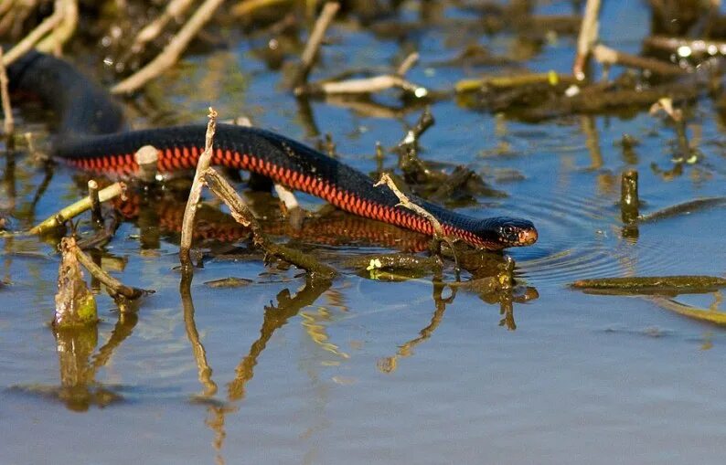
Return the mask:
[[113,86],[112,93],[128,93],[138,90],[149,80],[171,68],[187,48],[192,38],[197,35],[199,29],[207,24],[222,3],[224,3],[224,0],[206,0],[156,58],[132,76]]

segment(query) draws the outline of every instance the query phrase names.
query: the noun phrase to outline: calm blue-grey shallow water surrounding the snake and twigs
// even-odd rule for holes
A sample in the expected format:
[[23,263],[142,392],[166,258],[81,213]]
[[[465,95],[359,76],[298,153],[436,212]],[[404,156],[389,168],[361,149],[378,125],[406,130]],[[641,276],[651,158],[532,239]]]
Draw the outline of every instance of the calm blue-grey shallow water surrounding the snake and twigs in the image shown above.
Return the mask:
[[[411,8],[404,14],[415,17]],[[555,2],[541,11],[567,8]],[[608,44],[637,51],[646,6],[608,3],[602,24]],[[326,48],[327,68],[314,79],[340,67],[397,62],[398,44],[351,28],[333,26],[331,35],[341,40]],[[443,88],[476,75],[426,65],[454,56],[443,38],[436,28],[417,37],[422,65],[411,80]],[[502,53],[514,38],[481,41]],[[528,66],[566,71],[573,42],[552,40]],[[230,51],[188,58],[181,72],[152,84],[163,115],[157,119],[203,121],[212,103],[222,117],[245,114],[258,126],[310,141],[279,74],[252,57],[256,45],[244,39]],[[347,273],[311,289],[295,270],[265,269],[259,257],[220,256],[195,273],[190,306],[179,293],[176,233],[159,231],[152,215],[124,223],[107,247],[108,263],[115,258],[123,268],[116,276],[156,293],[136,322],[117,323],[112,301],[99,298],[103,322],[91,355],[97,402],[86,410],[58,396],[59,364],[69,365],[69,351],[59,350],[47,324],[58,270],[52,241],[5,239],[0,462],[720,463],[723,330],[669,312],[653,298],[567,286],[606,276],[723,276],[726,206],[642,225],[636,239],[623,237],[617,207],[620,174],[628,168],[640,173],[646,214],[726,194],[726,137],[712,102],[700,100],[687,112],[703,158],[667,179],[652,166],[673,166],[676,132],[646,111],[528,124],[444,100],[432,113],[436,124],[422,138],[423,156],[468,164],[508,194],[481,197],[479,206],[462,211],[528,217],[538,226],[536,245],[507,251],[536,298],[501,315],[498,302],[473,292],[446,300],[450,290],[441,296],[431,277],[385,282]],[[318,128],[334,134],[341,158],[366,172],[375,170],[374,144],[397,143],[418,117],[411,111],[400,120],[373,118],[321,101],[312,103],[312,114]],[[624,133],[639,141],[635,157],[617,144]],[[18,228],[81,195],[74,172],[59,167],[33,209],[43,175],[26,157],[16,160]],[[8,188],[5,182],[4,199]],[[139,238],[152,234],[158,242]],[[327,257],[390,249],[295,240]],[[253,282],[234,289],[205,284],[230,276]],[[676,300],[726,310],[720,293]],[[210,371],[199,370],[203,360]]]

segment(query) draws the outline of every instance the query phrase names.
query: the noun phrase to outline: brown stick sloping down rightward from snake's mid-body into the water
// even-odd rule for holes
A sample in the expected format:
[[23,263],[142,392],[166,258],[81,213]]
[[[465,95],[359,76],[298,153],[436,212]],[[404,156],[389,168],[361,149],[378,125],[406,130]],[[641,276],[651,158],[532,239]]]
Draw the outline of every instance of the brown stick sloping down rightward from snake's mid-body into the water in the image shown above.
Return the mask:
[[336,276],[335,269],[318,262],[311,255],[295,250],[294,248],[275,244],[268,239],[262,232],[260,222],[252,215],[250,209],[244,204],[244,201],[235,192],[234,188],[213,168],[208,168],[202,174],[202,179],[215,196],[218,196],[230,207],[232,217],[240,225],[250,227],[255,244],[262,247],[267,253],[288,261],[298,268],[306,269],[316,277],[330,280]]

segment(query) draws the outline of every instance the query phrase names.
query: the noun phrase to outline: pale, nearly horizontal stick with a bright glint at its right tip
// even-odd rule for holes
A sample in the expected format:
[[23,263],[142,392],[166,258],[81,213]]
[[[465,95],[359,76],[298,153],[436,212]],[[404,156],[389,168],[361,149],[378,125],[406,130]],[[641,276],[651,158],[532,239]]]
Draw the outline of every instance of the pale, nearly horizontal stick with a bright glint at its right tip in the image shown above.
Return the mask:
[[314,82],[298,86],[294,92],[295,95],[361,94],[380,92],[392,88],[399,88],[420,99],[429,94],[429,90],[425,87],[414,84],[395,74],[383,74],[372,78]]

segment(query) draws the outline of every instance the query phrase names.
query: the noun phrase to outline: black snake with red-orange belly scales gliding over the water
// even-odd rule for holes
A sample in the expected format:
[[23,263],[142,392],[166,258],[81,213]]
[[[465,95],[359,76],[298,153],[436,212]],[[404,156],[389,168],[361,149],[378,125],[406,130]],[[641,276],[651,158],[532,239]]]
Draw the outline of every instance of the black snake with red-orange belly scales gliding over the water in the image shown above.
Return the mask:
[[[33,95],[55,115],[50,147],[54,159],[98,174],[133,178],[140,170],[134,153],[145,145],[157,150],[158,173],[193,169],[204,151],[206,124],[129,130],[121,106],[65,59],[31,51],[12,63],[7,74],[12,92]],[[219,123],[211,162],[270,178],[360,217],[434,235],[432,221],[401,206],[388,187],[376,186],[367,174],[276,132]],[[528,246],[538,238],[528,219],[470,217],[417,196],[410,199],[439,221],[444,235],[475,248]]]

